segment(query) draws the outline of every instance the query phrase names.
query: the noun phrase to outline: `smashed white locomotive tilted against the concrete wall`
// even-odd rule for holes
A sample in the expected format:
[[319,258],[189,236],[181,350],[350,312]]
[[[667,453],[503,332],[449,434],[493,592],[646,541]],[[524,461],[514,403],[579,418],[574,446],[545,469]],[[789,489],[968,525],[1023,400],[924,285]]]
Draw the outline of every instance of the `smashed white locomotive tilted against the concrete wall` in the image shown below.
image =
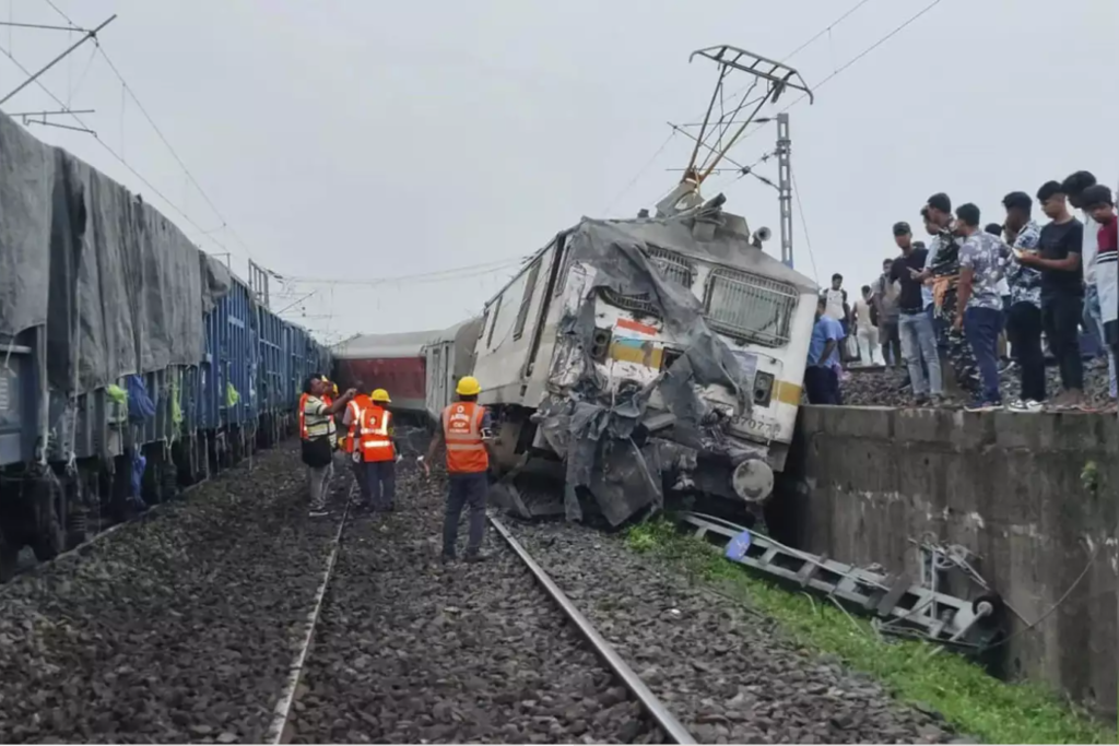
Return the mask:
[[[619,526],[666,492],[737,509],[770,495],[817,287],[763,253],[721,201],[667,218],[584,218],[487,304],[474,376],[496,415],[504,507],[581,520],[590,504]],[[564,481],[562,506],[533,498],[540,474]]]

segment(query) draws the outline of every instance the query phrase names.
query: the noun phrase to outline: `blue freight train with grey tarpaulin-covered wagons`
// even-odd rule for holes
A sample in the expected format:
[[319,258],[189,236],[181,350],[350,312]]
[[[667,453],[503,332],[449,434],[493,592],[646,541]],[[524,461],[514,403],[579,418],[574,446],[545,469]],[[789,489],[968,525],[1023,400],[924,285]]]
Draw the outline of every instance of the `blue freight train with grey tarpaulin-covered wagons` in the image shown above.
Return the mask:
[[0,577],[294,433],[329,350],[0,114]]

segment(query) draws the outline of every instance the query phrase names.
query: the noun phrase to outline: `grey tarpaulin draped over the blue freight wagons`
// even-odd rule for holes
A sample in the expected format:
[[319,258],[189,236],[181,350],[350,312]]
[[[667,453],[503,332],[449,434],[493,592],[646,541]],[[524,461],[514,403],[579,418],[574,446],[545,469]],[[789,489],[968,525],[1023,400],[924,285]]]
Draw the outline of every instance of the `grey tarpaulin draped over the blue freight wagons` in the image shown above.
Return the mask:
[[203,313],[228,287],[139,196],[0,115],[0,333],[47,324],[53,387],[197,365]]

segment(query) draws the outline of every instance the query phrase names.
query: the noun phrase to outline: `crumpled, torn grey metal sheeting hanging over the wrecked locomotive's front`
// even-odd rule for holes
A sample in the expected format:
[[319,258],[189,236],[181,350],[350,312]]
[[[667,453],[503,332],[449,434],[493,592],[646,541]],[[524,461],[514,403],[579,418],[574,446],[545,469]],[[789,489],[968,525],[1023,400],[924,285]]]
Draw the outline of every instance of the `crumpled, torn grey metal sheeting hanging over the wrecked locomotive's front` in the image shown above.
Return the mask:
[[[560,323],[549,396],[534,419],[549,445],[566,460],[564,507],[570,520],[582,518],[576,498],[580,488],[590,490],[606,519],[618,525],[645,506],[659,504],[660,470],[671,460],[694,465],[697,451],[732,461],[747,456],[722,436],[718,413],[696,391],[702,386],[725,386],[737,397],[742,410],[749,412],[753,381],[726,342],[707,327],[696,295],[666,280],[648,253],[650,248],[668,249],[815,292],[815,285],[802,275],[752,246],[747,236],[728,225],[728,217],[718,208],[705,208],[666,219],[584,218],[567,234],[572,266],[582,264],[593,278],[577,310]],[[591,360],[594,299],[603,289],[643,296],[684,348],[671,367],[648,386],[622,387],[611,395]],[[556,386],[561,379],[564,385]],[[649,437],[648,418],[664,414],[648,410],[653,390],[659,390],[670,413],[670,444]]]

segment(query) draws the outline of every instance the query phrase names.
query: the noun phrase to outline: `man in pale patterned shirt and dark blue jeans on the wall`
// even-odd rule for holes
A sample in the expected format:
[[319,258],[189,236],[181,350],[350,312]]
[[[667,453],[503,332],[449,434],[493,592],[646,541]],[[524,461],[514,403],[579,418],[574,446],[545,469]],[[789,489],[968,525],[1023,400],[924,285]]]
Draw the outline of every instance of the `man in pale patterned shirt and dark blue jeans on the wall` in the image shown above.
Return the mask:
[[1002,239],[979,228],[979,208],[967,202],[956,208],[956,234],[960,247],[960,282],[957,287],[956,329],[971,347],[982,380],[972,410],[1003,406],[998,388],[998,337],[1003,332]]

